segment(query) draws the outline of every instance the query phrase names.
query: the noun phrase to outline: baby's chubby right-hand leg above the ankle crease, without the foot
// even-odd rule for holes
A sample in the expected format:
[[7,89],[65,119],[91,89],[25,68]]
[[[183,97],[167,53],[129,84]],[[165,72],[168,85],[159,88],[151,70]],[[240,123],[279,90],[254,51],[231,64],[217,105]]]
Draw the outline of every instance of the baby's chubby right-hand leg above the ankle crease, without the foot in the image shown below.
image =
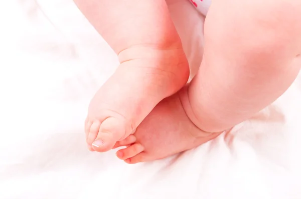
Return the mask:
[[218,132],[276,100],[300,65],[299,0],[215,0],[205,21],[202,65],[191,82],[187,114]]

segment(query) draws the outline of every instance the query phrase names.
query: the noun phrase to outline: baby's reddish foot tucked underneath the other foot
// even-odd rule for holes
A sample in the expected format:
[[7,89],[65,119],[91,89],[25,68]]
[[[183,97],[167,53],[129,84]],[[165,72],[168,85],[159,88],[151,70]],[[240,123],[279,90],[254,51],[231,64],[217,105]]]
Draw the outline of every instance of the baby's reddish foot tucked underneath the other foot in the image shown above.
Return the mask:
[[[140,123],[136,132],[118,141],[116,152],[126,163],[164,158],[205,143],[220,133],[202,131],[187,116],[182,102],[185,88],[162,100]],[[180,100],[181,97],[181,100]]]

